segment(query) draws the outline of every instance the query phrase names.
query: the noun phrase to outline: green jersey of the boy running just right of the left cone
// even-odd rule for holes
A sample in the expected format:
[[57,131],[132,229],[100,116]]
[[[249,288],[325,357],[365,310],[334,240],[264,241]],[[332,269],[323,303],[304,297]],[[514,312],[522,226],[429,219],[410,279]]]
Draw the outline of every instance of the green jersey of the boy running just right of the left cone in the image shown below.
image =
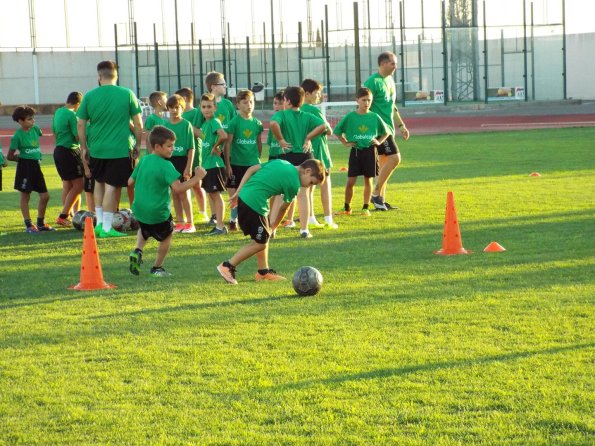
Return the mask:
[[163,223],[171,214],[169,187],[180,178],[180,173],[169,160],[156,153],[140,159],[132,172],[134,201],[132,212],[143,223]]

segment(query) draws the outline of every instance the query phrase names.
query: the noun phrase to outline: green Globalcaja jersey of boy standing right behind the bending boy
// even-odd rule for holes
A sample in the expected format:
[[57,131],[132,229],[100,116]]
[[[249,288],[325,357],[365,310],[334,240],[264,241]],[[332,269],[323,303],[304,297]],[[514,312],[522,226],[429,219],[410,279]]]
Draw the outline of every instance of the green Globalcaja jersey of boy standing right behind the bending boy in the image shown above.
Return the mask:
[[237,115],[227,127],[233,137],[230,146],[230,163],[234,166],[253,166],[260,163],[258,141],[262,133],[262,122],[256,118],[245,119]]

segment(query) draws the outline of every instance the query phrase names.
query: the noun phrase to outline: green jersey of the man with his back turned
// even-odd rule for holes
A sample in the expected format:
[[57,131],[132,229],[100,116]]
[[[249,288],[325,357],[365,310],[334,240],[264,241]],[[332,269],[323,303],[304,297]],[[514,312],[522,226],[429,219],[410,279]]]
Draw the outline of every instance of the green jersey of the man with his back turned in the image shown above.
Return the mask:
[[130,119],[141,113],[138,99],[128,88],[102,85],[88,92],[77,112],[89,121],[87,145],[93,158],[128,158],[133,149]]

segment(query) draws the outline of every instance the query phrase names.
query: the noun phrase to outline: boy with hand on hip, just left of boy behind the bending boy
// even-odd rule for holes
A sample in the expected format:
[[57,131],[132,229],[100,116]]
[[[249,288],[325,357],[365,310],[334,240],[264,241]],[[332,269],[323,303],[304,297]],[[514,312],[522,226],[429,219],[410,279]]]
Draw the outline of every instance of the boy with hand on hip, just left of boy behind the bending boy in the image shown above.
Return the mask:
[[207,174],[202,183],[211,202],[211,209],[215,212],[215,227],[207,235],[227,234],[227,227],[223,224],[225,215],[225,202],[221,192],[225,190],[225,162],[223,144],[227,134],[219,119],[215,118],[215,96],[206,93],[200,99],[200,111],[205,117],[200,131],[202,137],[202,166]]

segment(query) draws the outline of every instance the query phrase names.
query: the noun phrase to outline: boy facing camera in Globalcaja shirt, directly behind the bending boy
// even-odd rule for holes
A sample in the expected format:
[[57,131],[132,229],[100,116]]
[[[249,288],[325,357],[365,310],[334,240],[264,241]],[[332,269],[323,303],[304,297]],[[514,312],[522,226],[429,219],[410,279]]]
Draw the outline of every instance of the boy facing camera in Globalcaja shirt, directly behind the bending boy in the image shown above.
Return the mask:
[[[260,164],[262,153],[262,122],[252,116],[254,111],[254,93],[250,90],[241,90],[237,97],[240,113],[232,118],[227,127],[227,140],[225,141],[225,169],[227,172],[227,193],[231,197],[244,174],[250,166]],[[238,208],[231,208],[229,230],[237,231],[236,220]]]

